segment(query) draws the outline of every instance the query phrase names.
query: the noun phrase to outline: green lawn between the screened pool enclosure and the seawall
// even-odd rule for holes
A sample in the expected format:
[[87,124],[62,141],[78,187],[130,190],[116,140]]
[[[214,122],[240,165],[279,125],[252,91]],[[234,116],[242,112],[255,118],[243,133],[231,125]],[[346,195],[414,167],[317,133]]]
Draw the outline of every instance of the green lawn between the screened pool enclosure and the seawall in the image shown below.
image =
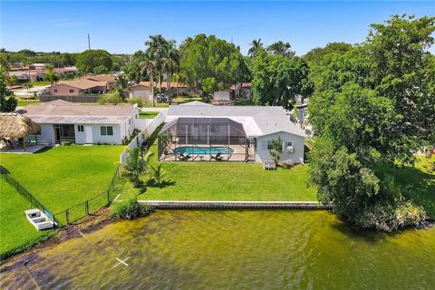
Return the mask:
[[[157,146],[151,162],[157,162]],[[169,175],[163,188],[150,185],[140,199],[165,200],[316,200],[306,186],[307,166],[263,169],[245,162],[165,162]],[[146,179],[146,178],[144,178]],[[138,191],[127,183],[124,193]]]

